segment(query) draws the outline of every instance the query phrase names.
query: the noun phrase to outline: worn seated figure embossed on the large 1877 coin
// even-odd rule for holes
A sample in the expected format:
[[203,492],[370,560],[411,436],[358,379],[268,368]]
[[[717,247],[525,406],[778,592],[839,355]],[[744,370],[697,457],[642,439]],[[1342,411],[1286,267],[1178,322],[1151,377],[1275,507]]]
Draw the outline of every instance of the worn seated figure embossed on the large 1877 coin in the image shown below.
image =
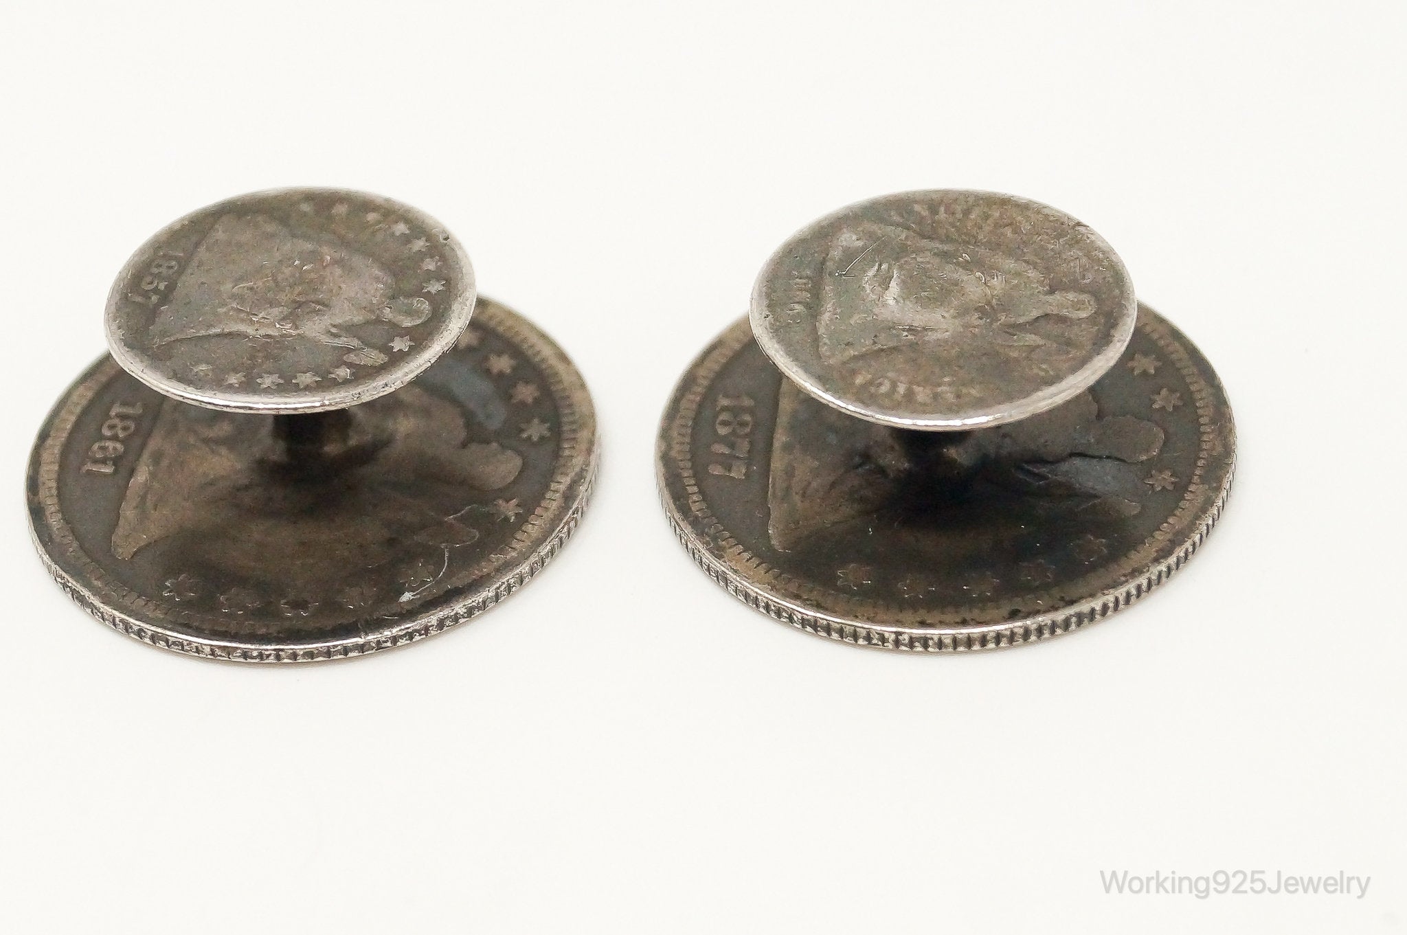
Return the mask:
[[[1165,436],[1155,423],[1104,415],[1085,391],[1054,409],[978,432],[905,432],[855,419],[798,389],[781,385],[768,471],[768,536],[792,551],[853,520],[870,533],[900,539],[900,526],[936,529],[905,539],[905,550],[995,548],[1010,529],[991,509],[1007,494],[1026,509],[1089,516],[1134,516],[1148,486],[1133,465],[1157,456]],[[985,491],[969,496],[972,491]],[[924,492],[929,496],[924,496]],[[964,508],[969,524],[961,526]],[[933,503],[940,502],[940,509]],[[874,523],[898,508],[891,522]],[[944,533],[943,530],[947,530]],[[902,550],[900,550],[902,551]]]

